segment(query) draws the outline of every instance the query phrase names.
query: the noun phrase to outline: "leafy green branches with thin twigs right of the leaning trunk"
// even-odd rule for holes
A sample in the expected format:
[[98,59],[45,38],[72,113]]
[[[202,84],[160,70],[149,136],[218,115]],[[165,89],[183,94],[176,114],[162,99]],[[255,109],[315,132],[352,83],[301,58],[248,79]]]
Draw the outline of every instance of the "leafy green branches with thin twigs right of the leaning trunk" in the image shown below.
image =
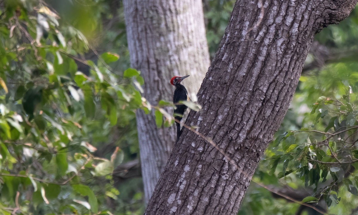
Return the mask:
[[[339,202],[337,194],[341,185],[353,195],[358,194],[353,180],[358,167],[356,97],[353,93],[343,95],[341,100],[319,97],[312,105],[313,124],[276,142],[276,153],[284,160],[277,177],[295,173],[305,186],[313,186],[316,201],[323,198],[328,206],[332,199]],[[275,169],[277,166],[272,165],[271,172]]]

